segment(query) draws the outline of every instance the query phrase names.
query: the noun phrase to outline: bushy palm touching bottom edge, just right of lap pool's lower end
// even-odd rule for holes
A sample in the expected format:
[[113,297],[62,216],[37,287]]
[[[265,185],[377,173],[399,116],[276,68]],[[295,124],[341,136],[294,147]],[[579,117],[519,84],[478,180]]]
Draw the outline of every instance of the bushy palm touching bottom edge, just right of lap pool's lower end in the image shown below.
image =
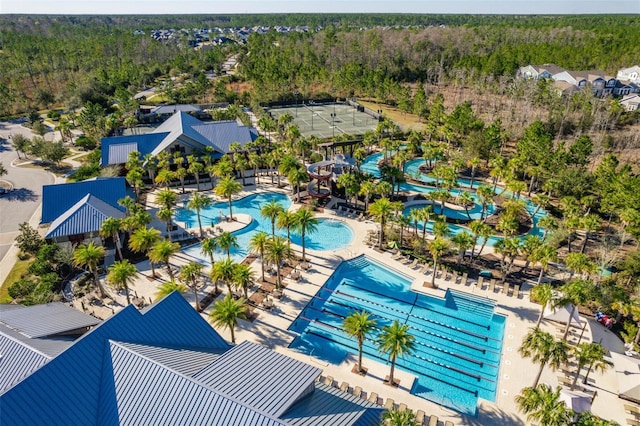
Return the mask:
[[529,421],[536,421],[544,426],[571,424],[571,412],[560,401],[559,386],[555,391],[545,384],[524,388],[515,400],[518,409],[527,415]]

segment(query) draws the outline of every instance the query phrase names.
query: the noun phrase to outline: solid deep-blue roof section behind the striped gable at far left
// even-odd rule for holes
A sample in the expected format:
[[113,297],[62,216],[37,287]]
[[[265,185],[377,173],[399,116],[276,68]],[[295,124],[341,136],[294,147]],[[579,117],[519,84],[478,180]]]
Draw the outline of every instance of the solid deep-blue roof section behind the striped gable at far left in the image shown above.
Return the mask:
[[127,195],[125,178],[113,177],[44,185],[41,223],[53,222],[87,194],[96,196],[118,210],[123,210],[118,206],[118,200]]

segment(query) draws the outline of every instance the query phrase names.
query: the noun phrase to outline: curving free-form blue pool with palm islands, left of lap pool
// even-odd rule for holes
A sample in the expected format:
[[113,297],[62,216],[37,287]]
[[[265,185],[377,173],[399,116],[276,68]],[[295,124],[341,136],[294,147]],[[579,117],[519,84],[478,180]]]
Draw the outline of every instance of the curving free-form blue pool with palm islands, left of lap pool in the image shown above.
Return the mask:
[[[288,209],[291,206],[291,200],[289,200],[289,197],[275,192],[252,194],[232,203],[234,215],[237,213],[244,213],[253,218],[247,227],[233,233],[238,238],[239,245],[238,248],[231,250],[231,257],[236,262],[242,261],[242,259],[244,259],[249,253],[249,240],[251,240],[253,234],[259,231],[271,234],[271,221],[260,215],[260,209],[262,206],[271,200],[275,200],[280,203],[285,209]],[[214,203],[207,209],[200,212],[202,225],[207,226],[210,224],[216,224],[218,223],[221,215],[228,214],[229,204],[227,202]],[[175,220],[179,222],[186,222],[189,227],[198,226],[198,217],[195,211],[184,207],[177,209]],[[336,250],[349,245],[353,240],[353,230],[344,222],[331,219],[319,219],[319,222],[317,231],[312,234],[307,233],[305,236],[307,248],[312,250]],[[286,237],[286,231],[276,231],[276,234]],[[302,238],[300,235],[292,233],[291,242],[293,244],[302,245]],[[209,264],[208,257],[204,256],[201,252],[200,244],[184,249],[183,253],[203,264]],[[214,254],[215,260],[223,259],[225,257],[226,252],[221,250]]]

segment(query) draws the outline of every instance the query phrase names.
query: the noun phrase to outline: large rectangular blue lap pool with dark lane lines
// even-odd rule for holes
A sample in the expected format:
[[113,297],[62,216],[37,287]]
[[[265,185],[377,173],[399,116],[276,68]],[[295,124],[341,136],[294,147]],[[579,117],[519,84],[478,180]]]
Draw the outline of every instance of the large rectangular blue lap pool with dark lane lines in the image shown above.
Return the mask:
[[[364,309],[378,327],[398,319],[416,338],[413,352],[396,362],[396,368],[416,376],[411,393],[475,415],[478,398],[496,398],[505,317],[494,312],[490,299],[455,290],[440,299],[410,286],[409,277],[366,256],[343,262],[292,323],[290,330],[299,336],[290,347],[339,364],[358,351],[343,331],[344,317]],[[375,339],[366,340],[365,358],[389,365]],[[366,367],[366,359],[363,363]]]

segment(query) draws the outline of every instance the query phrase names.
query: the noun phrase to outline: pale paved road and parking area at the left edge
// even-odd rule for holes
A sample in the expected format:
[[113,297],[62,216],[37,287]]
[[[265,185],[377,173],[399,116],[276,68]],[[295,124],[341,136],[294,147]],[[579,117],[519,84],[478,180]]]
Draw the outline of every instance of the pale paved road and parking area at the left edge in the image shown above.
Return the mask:
[[[14,190],[0,196],[0,261],[11,247],[17,235],[18,225],[28,222],[42,203],[42,185],[54,183],[54,176],[35,167],[16,167],[17,153],[11,146],[9,135],[23,134],[33,137],[31,131],[19,122],[0,123],[0,163],[7,174],[0,179],[13,184]],[[52,135],[48,135],[51,138]],[[40,222],[40,218],[36,223]]]

